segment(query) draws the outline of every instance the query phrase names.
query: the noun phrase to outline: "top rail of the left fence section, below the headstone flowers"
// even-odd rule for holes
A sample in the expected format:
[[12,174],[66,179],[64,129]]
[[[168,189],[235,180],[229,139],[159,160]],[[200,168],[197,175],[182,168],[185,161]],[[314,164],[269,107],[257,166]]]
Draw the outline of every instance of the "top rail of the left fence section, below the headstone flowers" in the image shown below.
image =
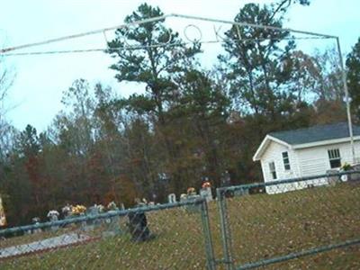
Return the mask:
[[137,212],[148,212],[148,211],[160,211],[160,210],[166,210],[166,209],[172,209],[177,208],[185,205],[199,205],[203,202],[206,202],[204,198],[196,198],[194,200],[184,201],[184,202],[172,202],[172,203],[163,203],[163,204],[157,204],[157,205],[144,205],[139,206],[136,208],[131,208],[127,210],[114,210],[114,211],[107,211],[104,213],[96,214],[96,215],[83,215],[83,216],[77,216],[74,218],[68,218],[65,220],[56,220],[56,221],[47,221],[47,222],[41,222],[31,225],[25,225],[25,226],[18,226],[13,228],[7,228],[7,229],[0,229],[0,237],[7,235],[7,234],[14,234],[17,232],[23,232],[30,229],[45,229],[50,228],[52,226],[63,226],[67,224],[72,223],[80,223],[87,220],[103,220],[108,219],[115,216],[127,216],[130,213],[137,213]]

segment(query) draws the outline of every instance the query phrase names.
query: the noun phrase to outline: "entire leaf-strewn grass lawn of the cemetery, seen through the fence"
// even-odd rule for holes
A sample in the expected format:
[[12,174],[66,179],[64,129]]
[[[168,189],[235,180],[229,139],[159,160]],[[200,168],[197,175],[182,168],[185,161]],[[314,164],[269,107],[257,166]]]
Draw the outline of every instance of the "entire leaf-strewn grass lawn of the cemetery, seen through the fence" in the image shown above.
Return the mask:
[[[246,195],[228,199],[227,202],[233,257],[237,266],[360,237],[360,184],[338,184],[275,195]],[[215,202],[210,203],[209,211],[215,257],[221,258],[220,226]],[[6,259],[0,261],[0,268],[205,268],[200,212],[172,209],[149,212],[147,216],[149,228],[156,235],[148,242],[131,242],[130,235],[124,233],[76,247]],[[93,234],[96,235],[96,231]],[[41,236],[39,234],[36,238]],[[29,240],[30,236],[11,238],[6,240],[6,246]],[[341,248],[267,267],[360,269],[360,247]]]

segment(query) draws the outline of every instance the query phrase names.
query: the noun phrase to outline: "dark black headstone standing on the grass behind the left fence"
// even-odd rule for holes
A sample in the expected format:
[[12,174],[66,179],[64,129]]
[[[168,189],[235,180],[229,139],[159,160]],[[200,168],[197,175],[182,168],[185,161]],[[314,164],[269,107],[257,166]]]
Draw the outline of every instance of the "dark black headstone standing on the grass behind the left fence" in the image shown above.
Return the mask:
[[131,239],[133,241],[143,242],[154,238],[148,229],[148,220],[143,211],[130,212],[128,217]]

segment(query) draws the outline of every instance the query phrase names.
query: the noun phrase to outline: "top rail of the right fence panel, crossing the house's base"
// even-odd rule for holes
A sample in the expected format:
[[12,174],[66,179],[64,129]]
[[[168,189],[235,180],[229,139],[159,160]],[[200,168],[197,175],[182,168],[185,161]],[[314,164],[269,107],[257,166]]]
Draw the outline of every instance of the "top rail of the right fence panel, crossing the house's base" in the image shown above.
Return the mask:
[[224,187],[217,188],[217,193],[223,194],[223,193],[229,192],[229,191],[234,192],[234,191],[238,191],[238,190],[248,190],[250,188],[265,187],[265,186],[271,186],[271,185],[277,185],[277,184],[292,184],[292,183],[304,182],[304,181],[308,181],[308,180],[316,180],[316,179],[320,179],[320,178],[334,177],[334,176],[341,176],[341,175],[352,175],[352,174],[360,174],[360,170],[342,171],[342,172],[328,173],[328,174],[323,174],[323,175],[311,175],[311,176],[306,176],[306,177],[289,178],[289,179],[284,179],[284,180],[275,180],[275,181],[263,182],[263,183],[224,186]]

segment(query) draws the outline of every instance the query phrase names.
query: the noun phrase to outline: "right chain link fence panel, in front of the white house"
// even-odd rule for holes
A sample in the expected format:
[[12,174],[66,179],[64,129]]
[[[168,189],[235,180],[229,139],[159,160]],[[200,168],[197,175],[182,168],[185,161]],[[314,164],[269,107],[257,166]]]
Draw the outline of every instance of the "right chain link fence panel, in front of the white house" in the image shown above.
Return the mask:
[[218,189],[224,265],[360,269],[359,180],[345,172]]

